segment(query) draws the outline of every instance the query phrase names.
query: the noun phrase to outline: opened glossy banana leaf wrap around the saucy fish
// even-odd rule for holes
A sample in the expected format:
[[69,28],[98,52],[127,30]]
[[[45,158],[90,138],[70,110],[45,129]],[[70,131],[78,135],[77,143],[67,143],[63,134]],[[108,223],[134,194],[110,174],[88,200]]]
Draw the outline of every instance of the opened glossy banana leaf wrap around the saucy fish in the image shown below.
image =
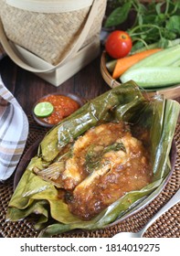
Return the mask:
[[[36,217],[40,237],[50,237],[71,229],[102,229],[142,207],[164,186],[171,171],[170,150],[180,105],[163,96],[146,100],[139,87],[129,81],[89,101],[52,128],[38,146],[38,152],[26,167],[7,210],[6,219],[16,221],[29,215]],[[69,212],[67,204],[49,182],[32,172],[56,162],[61,148],[90,127],[103,122],[124,121],[140,124],[150,131],[151,161],[154,180],[138,191],[126,193],[95,218],[84,221]]]

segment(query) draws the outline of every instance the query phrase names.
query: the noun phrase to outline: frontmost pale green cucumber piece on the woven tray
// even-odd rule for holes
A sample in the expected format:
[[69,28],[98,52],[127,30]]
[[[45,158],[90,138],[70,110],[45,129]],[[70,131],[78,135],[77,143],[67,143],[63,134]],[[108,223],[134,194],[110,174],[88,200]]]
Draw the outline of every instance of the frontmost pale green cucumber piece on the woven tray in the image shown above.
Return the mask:
[[134,80],[143,88],[164,87],[180,83],[180,68],[176,67],[144,67],[125,72],[122,82]]

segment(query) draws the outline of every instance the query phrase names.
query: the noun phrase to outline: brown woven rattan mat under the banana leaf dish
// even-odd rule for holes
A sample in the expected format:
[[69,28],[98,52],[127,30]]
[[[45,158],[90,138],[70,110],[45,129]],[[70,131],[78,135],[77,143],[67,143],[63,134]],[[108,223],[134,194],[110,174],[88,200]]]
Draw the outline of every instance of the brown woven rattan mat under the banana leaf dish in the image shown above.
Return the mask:
[[[26,149],[36,142],[38,138],[42,138],[48,131],[46,128],[38,126],[29,118],[30,131],[27,139]],[[175,130],[175,143],[177,147],[177,158],[173,175],[161,194],[156,197],[147,207],[134,214],[131,218],[123,220],[121,223],[111,226],[107,229],[99,229],[96,231],[74,231],[60,235],[64,238],[110,238],[120,231],[138,231],[142,229],[146,222],[151,219],[155,212],[172,197],[176,190],[180,187],[180,123],[177,124]],[[12,176],[4,184],[0,184],[0,232],[6,238],[32,238],[37,237],[38,233],[33,229],[33,224],[28,220],[18,222],[6,222],[5,213],[8,202],[13,194]],[[162,217],[157,219],[154,224],[145,232],[144,237],[148,238],[179,238],[180,237],[180,204],[169,209]]]

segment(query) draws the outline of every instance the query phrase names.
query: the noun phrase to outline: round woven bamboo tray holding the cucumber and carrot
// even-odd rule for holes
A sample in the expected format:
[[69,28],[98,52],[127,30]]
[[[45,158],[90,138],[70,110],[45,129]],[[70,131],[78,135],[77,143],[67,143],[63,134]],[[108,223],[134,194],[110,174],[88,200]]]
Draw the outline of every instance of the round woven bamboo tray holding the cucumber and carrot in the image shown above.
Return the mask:
[[[105,80],[111,88],[121,85],[121,83],[118,80],[114,80],[111,77],[110,72],[106,68],[106,52],[105,51],[101,55],[101,75],[103,80]],[[180,84],[176,85],[175,87],[162,89],[160,91],[143,90],[142,92],[143,92],[143,96],[147,99],[153,97],[155,94],[156,95],[164,94],[164,97],[166,99],[175,99],[177,97],[180,97]]]

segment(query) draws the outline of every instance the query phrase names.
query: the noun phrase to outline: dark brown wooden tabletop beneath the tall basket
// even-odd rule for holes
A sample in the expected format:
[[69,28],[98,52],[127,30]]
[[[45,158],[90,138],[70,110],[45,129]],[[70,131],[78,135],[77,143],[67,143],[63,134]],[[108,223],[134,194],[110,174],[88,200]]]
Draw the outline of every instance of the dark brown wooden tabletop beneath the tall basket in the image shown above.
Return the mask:
[[[50,92],[66,91],[90,100],[110,90],[110,87],[101,77],[100,59],[101,57],[94,59],[87,67],[59,87],[49,84],[33,73],[20,69],[8,57],[0,61],[0,73],[5,86],[9,91],[12,91],[26,114],[30,115],[34,103]],[[176,100],[180,101],[180,97],[177,97]]]

